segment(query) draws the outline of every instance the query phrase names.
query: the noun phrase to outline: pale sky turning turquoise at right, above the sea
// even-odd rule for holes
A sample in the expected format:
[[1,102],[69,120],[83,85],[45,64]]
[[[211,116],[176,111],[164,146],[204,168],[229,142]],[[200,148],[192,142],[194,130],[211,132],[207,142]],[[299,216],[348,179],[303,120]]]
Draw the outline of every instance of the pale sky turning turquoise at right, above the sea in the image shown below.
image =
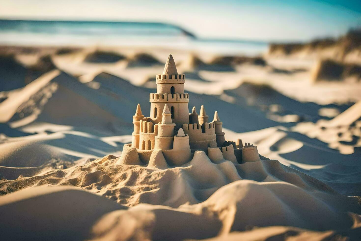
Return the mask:
[[361,26],[360,0],[0,0],[0,18],[172,23],[201,38],[308,41]]

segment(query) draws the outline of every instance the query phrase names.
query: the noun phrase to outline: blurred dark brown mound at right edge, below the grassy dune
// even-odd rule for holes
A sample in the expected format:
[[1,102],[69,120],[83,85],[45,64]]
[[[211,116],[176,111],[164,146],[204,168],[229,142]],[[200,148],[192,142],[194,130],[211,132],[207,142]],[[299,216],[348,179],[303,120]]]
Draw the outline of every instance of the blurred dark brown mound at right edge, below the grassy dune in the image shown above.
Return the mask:
[[330,59],[320,60],[316,64],[312,81],[352,81],[361,80],[361,65],[344,64]]

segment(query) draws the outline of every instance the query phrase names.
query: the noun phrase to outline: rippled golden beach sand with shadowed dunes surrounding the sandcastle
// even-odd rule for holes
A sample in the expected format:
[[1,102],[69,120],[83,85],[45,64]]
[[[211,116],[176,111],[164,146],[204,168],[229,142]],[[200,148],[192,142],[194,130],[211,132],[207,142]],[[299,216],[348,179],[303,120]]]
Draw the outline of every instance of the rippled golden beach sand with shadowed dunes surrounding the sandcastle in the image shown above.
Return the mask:
[[[0,66],[0,239],[361,239],[361,82],[315,82],[317,59],[283,55],[11,50],[0,61],[11,66]],[[261,160],[122,156],[155,75],[175,71],[169,53],[189,111],[217,111],[226,140],[257,145]]]

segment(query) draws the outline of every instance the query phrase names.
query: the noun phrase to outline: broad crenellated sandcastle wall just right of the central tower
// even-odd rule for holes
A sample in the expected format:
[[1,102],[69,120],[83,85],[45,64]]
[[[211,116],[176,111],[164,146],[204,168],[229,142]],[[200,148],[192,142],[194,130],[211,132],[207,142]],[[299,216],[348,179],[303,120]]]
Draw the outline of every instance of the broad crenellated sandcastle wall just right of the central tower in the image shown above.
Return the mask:
[[183,131],[189,135],[191,149],[208,150],[208,147],[217,147],[215,126],[213,123],[183,124]]

